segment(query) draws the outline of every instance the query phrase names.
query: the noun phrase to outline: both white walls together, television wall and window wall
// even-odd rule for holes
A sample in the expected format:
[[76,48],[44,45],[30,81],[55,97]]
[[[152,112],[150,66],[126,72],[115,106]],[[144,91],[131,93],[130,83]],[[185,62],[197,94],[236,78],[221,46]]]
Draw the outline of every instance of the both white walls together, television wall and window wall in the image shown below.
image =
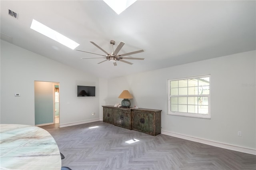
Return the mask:
[[[256,149],[256,51],[108,80],[2,40],[0,56],[1,123],[34,125],[34,81],[51,81],[60,83],[61,125],[102,120],[101,105],[121,103],[126,89],[131,106],[162,109],[162,132]],[[212,118],[167,115],[167,79],[204,74],[211,75]],[[96,86],[96,97],[76,97],[77,85]]]

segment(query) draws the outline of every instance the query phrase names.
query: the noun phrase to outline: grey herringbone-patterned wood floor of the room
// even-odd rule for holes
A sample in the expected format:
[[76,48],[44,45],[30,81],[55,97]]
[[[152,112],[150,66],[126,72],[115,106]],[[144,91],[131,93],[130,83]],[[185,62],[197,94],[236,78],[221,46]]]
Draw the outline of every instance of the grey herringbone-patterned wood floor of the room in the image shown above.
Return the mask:
[[[98,128],[89,128],[98,126]],[[164,134],[151,136],[102,121],[56,128],[62,166],[72,170],[256,170],[256,156]],[[128,144],[125,141],[137,139]]]

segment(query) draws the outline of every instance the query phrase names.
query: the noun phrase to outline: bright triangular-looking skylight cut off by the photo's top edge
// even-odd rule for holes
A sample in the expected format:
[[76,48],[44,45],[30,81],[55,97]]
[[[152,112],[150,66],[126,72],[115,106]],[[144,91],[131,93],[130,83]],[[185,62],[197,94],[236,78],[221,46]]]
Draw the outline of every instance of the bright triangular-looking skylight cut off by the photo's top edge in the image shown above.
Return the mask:
[[132,5],[136,0],[103,0],[116,14],[121,14],[126,8]]

